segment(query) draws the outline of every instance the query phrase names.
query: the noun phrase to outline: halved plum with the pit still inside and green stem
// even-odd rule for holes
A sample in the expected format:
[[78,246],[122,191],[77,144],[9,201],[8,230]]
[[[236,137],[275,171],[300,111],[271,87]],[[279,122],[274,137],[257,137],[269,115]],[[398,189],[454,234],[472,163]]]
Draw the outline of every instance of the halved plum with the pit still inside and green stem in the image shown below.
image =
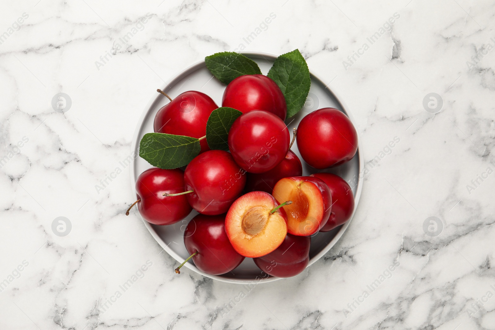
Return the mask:
[[239,254],[261,257],[282,244],[287,235],[287,215],[278,206],[275,198],[264,191],[248,192],[231,205],[225,231]]

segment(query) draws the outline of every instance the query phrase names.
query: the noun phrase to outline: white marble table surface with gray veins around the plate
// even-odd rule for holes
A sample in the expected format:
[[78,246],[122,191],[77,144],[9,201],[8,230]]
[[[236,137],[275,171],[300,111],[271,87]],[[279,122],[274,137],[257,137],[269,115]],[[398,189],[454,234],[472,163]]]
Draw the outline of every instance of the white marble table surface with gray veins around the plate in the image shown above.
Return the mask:
[[[4,2],[0,329],[495,329],[493,1]],[[205,55],[295,48],[363,141],[352,223],[295,278],[175,274],[124,215],[136,120]]]

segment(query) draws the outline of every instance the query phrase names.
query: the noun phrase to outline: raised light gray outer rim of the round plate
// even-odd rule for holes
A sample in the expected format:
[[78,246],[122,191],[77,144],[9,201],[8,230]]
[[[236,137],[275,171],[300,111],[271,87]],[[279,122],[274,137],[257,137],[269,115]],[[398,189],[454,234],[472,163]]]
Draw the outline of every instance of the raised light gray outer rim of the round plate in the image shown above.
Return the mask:
[[[262,52],[262,51],[240,51],[239,53],[246,55],[246,56],[252,56],[252,57],[257,57],[257,58],[261,58],[261,57],[264,58],[265,56],[267,56],[267,57],[270,57],[271,59],[276,59],[278,57],[275,54],[268,53],[268,52]],[[178,71],[172,78],[170,78],[166,82],[164,82],[164,85],[162,85],[161,90],[166,93],[170,89],[170,84],[172,82],[174,82],[175,80],[179,79],[180,77],[182,77],[184,75],[189,74],[192,71],[196,71],[198,69],[198,67],[202,66],[202,65],[204,65],[204,59],[198,60],[195,63],[187,66],[186,68]],[[346,113],[347,117],[349,118],[349,120],[351,121],[352,125],[354,125],[354,127],[357,127],[355,120],[354,120],[354,117],[352,116],[352,112],[349,110],[349,107],[342,100],[342,98],[339,97],[339,94],[337,92],[335,92],[334,90],[329,89],[328,85],[330,85],[330,84],[328,84],[328,85],[325,84],[323,82],[323,80],[319,78],[319,76],[315,75],[311,71],[309,73],[313,79],[318,80],[319,83],[321,83],[323,86],[325,86],[325,89],[327,89],[328,92],[335,97],[335,99],[342,105],[343,109],[340,109],[340,110],[344,111]],[[145,118],[147,117],[149,111],[151,110],[153,104],[158,101],[158,97],[164,97],[164,96],[155,92],[155,94],[153,94],[153,96],[151,96],[151,98],[149,99],[143,112],[141,113],[141,116],[140,116],[140,118],[136,124],[136,129],[134,131],[134,135],[132,138],[131,153],[136,152],[136,145],[138,144],[137,140],[138,140],[139,132],[141,131],[141,127],[143,126],[143,122],[144,122]],[[349,224],[350,224],[351,220],[354,218],[354,214],[356,213],[357,206],[359,205],[359,199],[361,197],[361,191],[362,191],[362,186],[363,186],[363,181],[364,181],[361,179],[361,175],[360,175],[363,171],[363,168],[364,168],[364,158],[363,158],[363,154],[362,154],[363,149],[362,149],[362,144],[361,144],[361,136],[360,136],[357,129],[356,129],[356,133],[357,133],[357,152],[356,152],[356,154],[359,157],[359,172],[358,172],[358,178],[357,178],[356,195],[354,196],[354,210],[352,211],[352,215],[351,215],[350,219],[347,220],[347,222],[341,227],[339,232],[332,238],[332,240],[319,253],[317,253],[315,256],[313,256],[311,259],[309,259],[309,263],[306,266],[306,268],[311,266],[313,263],[315,263],[321,257],[323,257],[339,241],[339,239],[346,232],[347,227],[349,227]],[[139,157],[139,153],[138,153],[137,157]],[[134,193],[134,195],[136,195],[136,179],[137,179],[137,177],[135,174],[135,162],[136,162],[137,157],[134,158],[134,160],[131,162],[131,165],[130,165],[131,190]],[[141,217],[141,220],[143,221],[145,227],[148,229],[148,232],[151,234],[151,236],[153,236],[155,241],[162,247],[162,249],[165,250],[165,252],[167,252],[177,262],[182,263],[184,261],[184,258],[179,256],[173,250],[169,249],[168,245],[161,239],[161,237],[153,229],[153,227],[151,227],[151,224],[148,223],[148,221],[146,221],[145,219],[143,219],[143,217],[141,216],[141,213],[139,213],[139,211],[138,211],[138,214]],[[273,282],[273,281],[277,281],[277,280],[282,279],[282,278],[273,277],[273,276],[270,276],[266,279],[262,278],[261,280],[226,279],[226,278],[223,278],[221,276],[209,275],[209,274],[203,273],[193,263],[190,263],[190,262],[187,262],[186,264],[184,264],[184,266],[186,266],[190,270],[192,270],[192,271],[194,271],[194,272],[196,272],[202,276],[205,276],[205,277],[213,279],[213,280],[225,282],[225,283],[238,283],[238,284],[246,284],[246,283],[253,283],[253,282],[268,283],[268,282]]]

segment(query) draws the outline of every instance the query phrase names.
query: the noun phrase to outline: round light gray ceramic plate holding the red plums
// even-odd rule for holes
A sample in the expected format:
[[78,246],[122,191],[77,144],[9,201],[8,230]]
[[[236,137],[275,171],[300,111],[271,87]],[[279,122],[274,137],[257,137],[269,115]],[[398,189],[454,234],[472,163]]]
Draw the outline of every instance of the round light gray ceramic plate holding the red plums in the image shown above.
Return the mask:
[[[267,53],[253,53],[246,52],[243,53],[247,57],[258,63],[261,72],[267,74],[268,70],[273,64],[273,61],[277,56]],[[304,108],[294,117],[286,120],[286,124],[289,127],[292,137],[292,128],[297,127],[302,117],[306,114],[324,107],[334,107],[342,110],[347,114],[350,120],[354,123],[351,113],[349,112],[347,106],[334,92],[330,91],[325,87],[323,80],[317,78],[314,74],[311,74],[311,89],[309,90],[309,96],[306,101]],[[175,96],[186,92],[186,91],[199,91],[208,94],[213,100],[221,106],[222,95],[225,90],[225,85],[221,84],[216,78],[214,78],[204,65],[204,61],[200,61],[196,64],[183,70],[177,76],[172,78],[170,82],[164,86],[161,86],[161,90],[169,94],[172,98]],[[154,92],[148,105],[146,106],[141,118],[138,121],[136,132],[134,133],[134,138],[131,145],[131,150],[139,154],[139,141],[141,138],[149,132],[153,132],[153,120],[156,112],[169,100],[156,92]],[[355,124],[354,124],[355,126]],[[304,163],[299,151],[297,150],[297,143],[292,147],[292,150],[301,159],[303,164],[303,175],[310,175],[316,172],[331,172],[335,173],[347,182],[352,182],[352,192],[355,198],[355,207],[359,202],[359,195],[362,189],[362,180],[360,179],[359,173],[363,170],[363,156],[362,156],[362,146],[359,140],[358,150],[354,158],[351,161],[343,164],[339,167],[328,169],[328,170],[315,170]],[[131,165],[131,183],[132,191],[136,193],[134,183],[136,182],[138,176],[150,168],[151,165],[141,157],[137,157]],[[354,208],[355,210],[355,208]],[[184,228],[187,223],[198,214],[194,211],[184,220],[170,226],[155,226],[151,225],[145,220],[144,223],[148,228],[151,235],[156,239],[158,244],[174,259],[177,260],[177,265],[182,263],[188,256],[189,253],[184,246]],[[316,260],[321,258],[325,253],[330,250],[330,248],[339,240],[339,238],[344,234],[347,227],[349,226],[350,220],[346,224],[340,226],[333,231],[327,233],[318,233],[311,237],[311,249],[309,251],[309,266],[313,264]],[[250,283],[253,281],[270,282],[279,280],[279,278],[267,276],[262,273],[254,264],[251,258],[246,258],[243,263],[237,267],[233,272],[224,275],[214,276],[208,275],[196,268],[192,261],[189,261],[185,265],[190,270],[197,272],[203,276],[209,277],[211,279],[230,282],[230,283]],[[173,269],[170,269],[173,272]],[[179,276],[179,275],[178,275]]]

